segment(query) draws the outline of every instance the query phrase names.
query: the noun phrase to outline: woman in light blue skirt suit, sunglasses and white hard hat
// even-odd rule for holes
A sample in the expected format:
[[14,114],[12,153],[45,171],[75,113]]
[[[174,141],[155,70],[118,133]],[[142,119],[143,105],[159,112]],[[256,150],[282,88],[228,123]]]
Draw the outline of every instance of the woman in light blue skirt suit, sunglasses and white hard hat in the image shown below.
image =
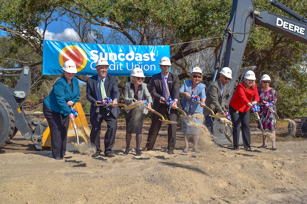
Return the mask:
[[[191,80],[185,80],[183,85],[180,88],[180,97],[183,97],[181,103],[183,106],[183,110],[187,115],[194,115],[196,113],[203,114],[204,108],[196,103],[195,100],[191,98],[191,95],[200,96],[200,101],[205,105],[206,100],[206,85],[201,83],[203,80],[203,72],[199,67],[195,67],[192,69],[190,73]],[[203,124],[203,119],[193,118],[182,118],[182,131],[184,135],[184,143],[185,147],[183,152],[187,152],[189,150],[189,137],[193,135],[193,151],[199,153],[200,150],[197,148],[197,144],[200,137],[200,130],[194,126],[190,126],[189,123],[194,122],[198,124]]]

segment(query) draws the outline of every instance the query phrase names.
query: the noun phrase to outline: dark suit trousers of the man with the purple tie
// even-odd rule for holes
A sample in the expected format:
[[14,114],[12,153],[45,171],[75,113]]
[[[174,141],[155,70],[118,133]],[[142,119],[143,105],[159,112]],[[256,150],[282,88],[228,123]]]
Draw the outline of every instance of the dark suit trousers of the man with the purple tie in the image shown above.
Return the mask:
[[[156,111],[161,113],[163,116],[166,114],[168,120],[176,121],[178,111],[176,109],[171,109],[170,114],[168,114],[167,108],[168,108],[168,105],[160,105],[160,108]],[[157,139],[157,136],[160,131],[161,124],[162,124],[162,121],[159,119],[161,119],[160,116],[154,113],[152,114],[151,125],[149,128],[148,138],[147,138],[147,143],[146,143],[146,147],[148,149],[152,149],[153,146],[155,145],[155,142],[156,142],[156,139]],[[168,124],[168,130],[167,130],[167,135],[168,135],[167,149],[168,150],[173,150],[175,148],[176,129],[177,129],[177,124]]]

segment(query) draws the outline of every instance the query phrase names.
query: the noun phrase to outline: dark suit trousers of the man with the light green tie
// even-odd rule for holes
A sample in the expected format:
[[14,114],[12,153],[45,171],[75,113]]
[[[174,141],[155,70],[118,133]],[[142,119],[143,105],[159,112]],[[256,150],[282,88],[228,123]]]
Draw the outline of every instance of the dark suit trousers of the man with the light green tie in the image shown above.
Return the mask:
[[100,149],[100,130],[101,130],[101,123],[105,120],[107,124],[107,131],[104,135],[104,152],[111,153],[112,147],[114,146],[115,142],[115,135],[117,129],[117,118],[113,116],[110,112],[107,115],[106,108],[100,107],[100,112],[95,113],[95,115],[90,119],[92,124],[92,131],[91,131],[91,143],[92,145],[96,146],[96,151],[101,152]]

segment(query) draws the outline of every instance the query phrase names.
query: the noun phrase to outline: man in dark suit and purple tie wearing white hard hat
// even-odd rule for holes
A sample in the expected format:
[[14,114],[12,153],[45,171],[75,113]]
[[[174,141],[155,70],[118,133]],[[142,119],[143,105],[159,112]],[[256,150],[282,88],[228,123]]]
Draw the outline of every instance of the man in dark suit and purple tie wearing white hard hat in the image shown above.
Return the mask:
[[[160,60],[161,73],[152,75],[151,78],[151,95],[155,100],[153,101],[153,109],[161,113],[163,116],[166,114],[168,120],[177,120],[177,110],[170,109],[168,113],[168,105],[163,101],[171,98],[174,100],[173,106],[177,106],[179,98],[179,78],[178,75],[170,73],[170,60],[167,57],[163,57]],[[148,151],[153,148],[157,139],[162,121],[159,120],[159,116],[152,114],[151,125],[148,132],[148,138],[146,146],[142,149]],[[176,129],[177,124],[168,125],[168,154],[174,154],[174,148],[176,144]]]

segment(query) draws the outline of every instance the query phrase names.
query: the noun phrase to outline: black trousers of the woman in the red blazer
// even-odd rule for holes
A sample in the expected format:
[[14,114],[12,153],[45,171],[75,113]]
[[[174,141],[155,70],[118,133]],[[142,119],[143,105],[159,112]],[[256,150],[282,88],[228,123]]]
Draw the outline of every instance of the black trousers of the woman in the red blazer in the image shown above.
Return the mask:
[[245,148],[251,148],[251,131],[249,126],[250,111],[245,113],[234,110],[231,106],[229,107],[229,113],[231,115],[233,125],[233,148],[239,148],[239,136],[240,136],[240,122],[242,125],[242,139]]

